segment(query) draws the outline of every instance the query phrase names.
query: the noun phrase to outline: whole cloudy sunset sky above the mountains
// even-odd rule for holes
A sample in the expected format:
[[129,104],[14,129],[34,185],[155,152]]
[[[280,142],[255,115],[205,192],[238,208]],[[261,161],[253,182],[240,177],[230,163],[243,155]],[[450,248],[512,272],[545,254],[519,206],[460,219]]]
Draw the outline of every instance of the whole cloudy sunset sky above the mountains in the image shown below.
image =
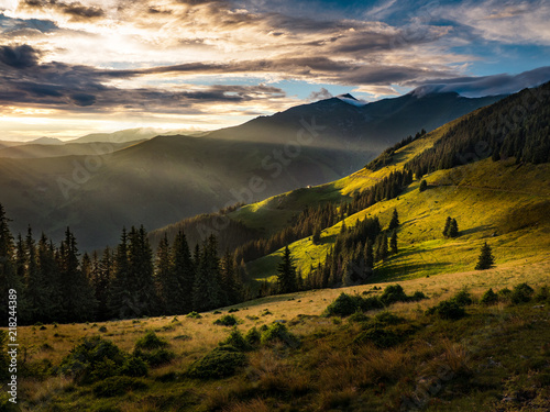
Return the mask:
[[550,2],[0,0],[0,140],[550,80]]

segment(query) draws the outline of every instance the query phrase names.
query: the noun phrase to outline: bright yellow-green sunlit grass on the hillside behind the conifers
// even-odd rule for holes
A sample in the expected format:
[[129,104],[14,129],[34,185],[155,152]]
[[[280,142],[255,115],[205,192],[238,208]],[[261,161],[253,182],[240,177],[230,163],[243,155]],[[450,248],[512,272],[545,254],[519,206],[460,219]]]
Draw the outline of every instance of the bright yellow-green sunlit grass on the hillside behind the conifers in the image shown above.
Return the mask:
[[[317,190],[337,190],[346,196],[364,190],[392,170],[400,169],[416,154],[430,147],[452,124],[446,125],[426,138],[399,149],[393,164],[377,171],[360,170]],[[414,181],[396,199],[382,201],[345,220],[348,227],[358,220],[378,216],[387,226],[394,209],[400,220],[399,253],[378,265],[372,279],[413,278],[440,272],[469,270],[475,265],[480,246],[488,242],[496,263],[525,259],[537,261],[550,250],[550,167],[549,165],[516,165],[514,159],[494,163],[475,162],[450,170],[425,176],[429,188],[420,192]],[[287,196],[297,194],[292,192]],[[251,205],[264,213],[262,204]],[[280,212],[282,213],[282,212]],[[460,236],[446,240],[442,230],[447,216],[457,219]],[[341,223],[324,230],[319,245],[304,238],[289,245],[295,264],[302,275],[310,266],[323,261]],[[257,279],[273,280],[282,249],[250,263],[249,271]]]

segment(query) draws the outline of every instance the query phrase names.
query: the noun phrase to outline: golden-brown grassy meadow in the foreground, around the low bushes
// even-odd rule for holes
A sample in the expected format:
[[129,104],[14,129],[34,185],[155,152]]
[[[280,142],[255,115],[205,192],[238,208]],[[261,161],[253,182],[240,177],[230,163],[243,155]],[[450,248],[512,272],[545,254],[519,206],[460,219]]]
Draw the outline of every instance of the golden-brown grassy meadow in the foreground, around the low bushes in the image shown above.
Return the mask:
[[[282,344],[262,346],[248,355],[244,368],[224,379],[190,379],[185,372],[229,335],[231,329],[212,324],[229,308],[218,314],[202,313],[201,319],[182,315],[20,327],[21,353],[25,354],[24,360],[20,359],[25,374],[19,385],[20,407],[22,411],[121,412],[362,410],[345,409],[354,402],[369,405],[366,410],[397,411],[403,394],[411,397],[425,377],[444,365],[454,374],[439,382],[443,390],[430,396],[436,403],[428,403],[426,411],[492,410],[495,402],[509,396],[509,390],[524,389],[538,397],[530,398],[531,407],[525,410],[543,411],[548,401],[539,399],[543,397],[540,386],[548,374],[537,366],[544,364],[548,354],[543,307],[532,309],[532,302],[520,307],[475,304],[458,322],[430,319],[424,311],[462,288],[468,288],[474,300],[490,287],[512,289],[527,282],[538,288],[548,280],[549,265],[549,260],[504,264],[483,276],[465,271],[400,282],[406,293],[421,290],[429,299],[389,307],[392,313],[406,319],[414,334],[405,344],[387,349],[354,344],[361,323],[320,316],[341,292],[372,296],[380,293],[373,291],[375,286],[385,288],[387,283],[305,291],[239,304],[232,309],[239,309],[233,314],[242,333],[274,321],[285,322],[301,345],[293,349]],[[367,315],[372,319],[376,312]],[[91,386],[52,372],[84,336],[99,334],[131,352],[151,330],[168,342],[176,357],[152,368],[140,380],[144,385],[140,390],[98,397]],[[505,342],[503,334],[507,336]],[[510,405],[516,407],[514,402]]]

